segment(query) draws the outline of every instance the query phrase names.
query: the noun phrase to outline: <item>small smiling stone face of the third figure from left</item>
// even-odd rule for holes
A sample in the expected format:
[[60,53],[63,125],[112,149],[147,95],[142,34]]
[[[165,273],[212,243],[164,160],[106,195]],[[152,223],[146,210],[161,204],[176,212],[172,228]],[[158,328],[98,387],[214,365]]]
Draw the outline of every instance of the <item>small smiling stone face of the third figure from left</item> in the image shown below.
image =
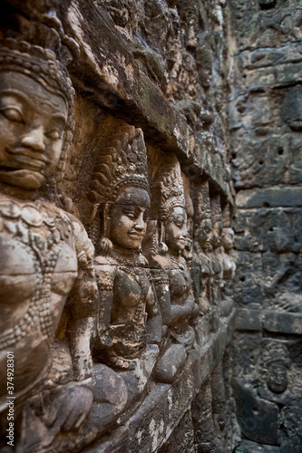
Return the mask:
[[170,252],[177,255],[187,245],[187,213],[183,207],[173,207],[165,222],[165,243]]

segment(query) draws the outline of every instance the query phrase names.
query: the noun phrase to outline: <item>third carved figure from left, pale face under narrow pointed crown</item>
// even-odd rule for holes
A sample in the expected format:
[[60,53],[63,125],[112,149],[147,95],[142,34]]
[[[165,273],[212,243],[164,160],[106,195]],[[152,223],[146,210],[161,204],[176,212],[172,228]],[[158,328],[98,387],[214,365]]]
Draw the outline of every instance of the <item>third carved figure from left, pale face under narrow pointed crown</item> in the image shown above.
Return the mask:
[[[174,156],[166,159],[152,185],[153,215],[158,218],[149,261],[161,306],[162,322],[168,327],[161,344],[156,379],[171,383],[195,341],[195,304],[190,272],[181,256],[188,243],[187,213],[180,164]],[[153,228],[154,230],[154,228]]]

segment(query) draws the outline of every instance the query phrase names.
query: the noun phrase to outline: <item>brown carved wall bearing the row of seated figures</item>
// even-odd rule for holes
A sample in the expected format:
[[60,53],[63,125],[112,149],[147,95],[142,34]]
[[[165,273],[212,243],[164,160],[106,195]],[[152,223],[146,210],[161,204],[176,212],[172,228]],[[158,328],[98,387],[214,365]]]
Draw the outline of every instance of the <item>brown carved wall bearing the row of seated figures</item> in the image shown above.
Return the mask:
[[2,3],[1,452],[238,442],[228,21]]

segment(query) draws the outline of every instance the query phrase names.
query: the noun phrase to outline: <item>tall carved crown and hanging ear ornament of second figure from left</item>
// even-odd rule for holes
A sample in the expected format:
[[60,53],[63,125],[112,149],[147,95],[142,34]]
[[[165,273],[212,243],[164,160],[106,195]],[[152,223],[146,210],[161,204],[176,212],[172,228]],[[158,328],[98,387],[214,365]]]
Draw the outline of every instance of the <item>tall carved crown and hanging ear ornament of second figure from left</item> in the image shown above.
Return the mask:
[[[107,231],[111,206],[121,195],[122,189],[133,187],[149,192],[147,152],[142,130],[125,124],[102,149],[88,193],[88,198],[93,202],[88,229],[95,245],[101,236],[99,246],[102,253],[108,253],[112,247]],[[102,217],[101,225],[97,213]]]

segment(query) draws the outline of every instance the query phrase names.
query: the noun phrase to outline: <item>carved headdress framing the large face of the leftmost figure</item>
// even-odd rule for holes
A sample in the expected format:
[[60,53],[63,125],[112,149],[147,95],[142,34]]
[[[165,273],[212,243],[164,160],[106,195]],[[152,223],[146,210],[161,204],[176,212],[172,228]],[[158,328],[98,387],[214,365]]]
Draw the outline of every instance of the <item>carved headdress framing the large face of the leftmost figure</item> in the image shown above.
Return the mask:
[[[62,24],[54,14],[44,14],[40,18],[44,24],[27,20],[20,14],[14,17],[16,38],[0,39],[0,72],[21,72],[31,77],[48,92],[61,95],[68,109],[63,149],[51,182],[55,188],[55,182],[63,179],[66,151],[73,140],[73,86],[65,65],[73,59],[72,55],[79,54],[79,45],[64,34]],[[27,34],[28,42],[24,41]]]

